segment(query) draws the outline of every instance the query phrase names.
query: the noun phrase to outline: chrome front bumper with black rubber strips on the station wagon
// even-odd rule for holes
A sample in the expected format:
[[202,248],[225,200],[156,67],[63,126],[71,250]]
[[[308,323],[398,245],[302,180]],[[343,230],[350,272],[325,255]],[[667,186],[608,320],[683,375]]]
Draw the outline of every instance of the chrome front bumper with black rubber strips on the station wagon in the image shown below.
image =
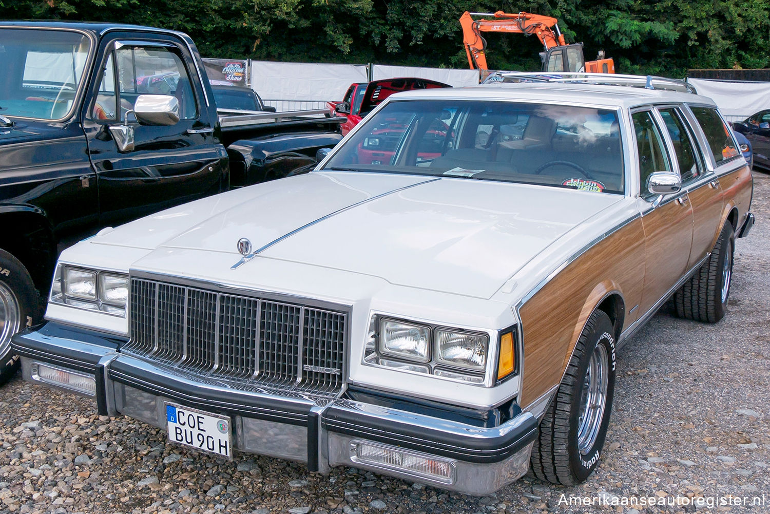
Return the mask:
[[[166,403],[227,415],[240,452],[305,462],[313,472],[349,465],[482,496],[529,467],[537,420],[528,412],[488,427],[458,422],[436,408],[405,410],[403,400],[246,391],[121,354],[121,342],[49,323],[17,334],[13,347],[22,357],[25,380],[94,398],[101,415],[128,415],[159,428],[167,426]],[[41,366],[62,376],[74,372],[77,380],[92,378],[94,391],[43,380]]]

